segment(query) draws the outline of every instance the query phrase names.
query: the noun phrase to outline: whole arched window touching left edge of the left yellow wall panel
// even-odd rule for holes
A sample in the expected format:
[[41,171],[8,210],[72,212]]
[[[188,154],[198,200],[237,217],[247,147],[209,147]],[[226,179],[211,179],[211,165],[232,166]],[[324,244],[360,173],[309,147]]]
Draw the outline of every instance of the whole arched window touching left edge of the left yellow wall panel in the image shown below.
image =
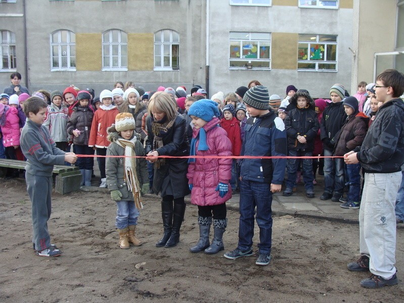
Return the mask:
[[76,70],[76,35],[66,29],[51,34],[51,70]]

